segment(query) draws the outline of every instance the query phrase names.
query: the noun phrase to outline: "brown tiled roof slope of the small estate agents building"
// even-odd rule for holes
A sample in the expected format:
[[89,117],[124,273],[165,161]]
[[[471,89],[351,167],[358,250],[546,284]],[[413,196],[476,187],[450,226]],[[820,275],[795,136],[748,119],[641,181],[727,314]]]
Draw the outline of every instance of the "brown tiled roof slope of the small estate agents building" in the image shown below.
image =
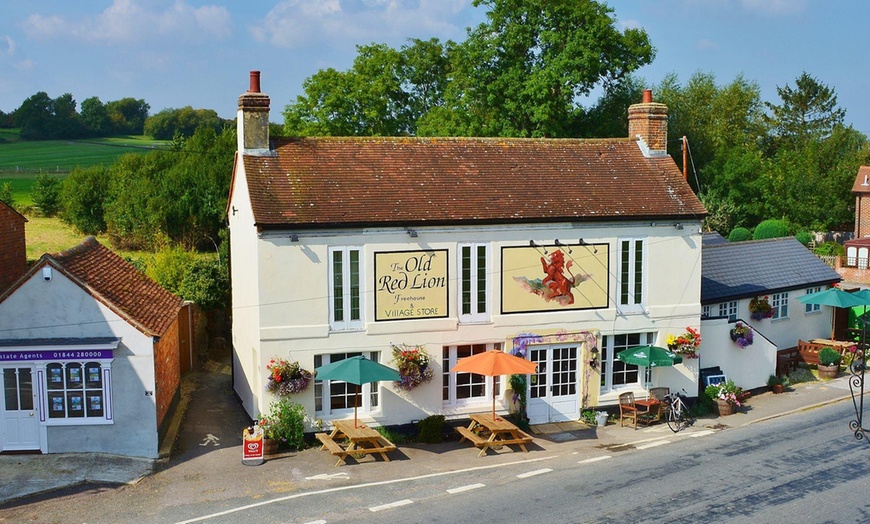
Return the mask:
[[43,260],[53,261],[60,271],[148,336],[162,335],[178,316],[181,298],[94,237],[61,253],[43,255],[40,262]]

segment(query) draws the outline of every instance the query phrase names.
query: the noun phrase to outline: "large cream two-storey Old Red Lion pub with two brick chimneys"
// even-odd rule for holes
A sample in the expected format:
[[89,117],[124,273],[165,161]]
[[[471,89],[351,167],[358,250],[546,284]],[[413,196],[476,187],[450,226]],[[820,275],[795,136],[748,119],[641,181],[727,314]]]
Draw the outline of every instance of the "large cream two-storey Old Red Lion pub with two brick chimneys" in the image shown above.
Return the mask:
[[[449,371],[493,348],[538,363],[532,423],[650,385],[695,387],[697,359],[614,358],[700,325],[706,211],[649,92],[629,110],[630,138],[600,140],[270,137],[269,103],[252,72],[227,206],[234,388],[252,418],[274,399],[273,358],[397,367],[396,347],[422,348],[434,378],[363,385],[369,423],[463,418],[494,394],[508,407],[507,377]],[[314,424],[352,414],[355,393],[324,380],[291,399]]]

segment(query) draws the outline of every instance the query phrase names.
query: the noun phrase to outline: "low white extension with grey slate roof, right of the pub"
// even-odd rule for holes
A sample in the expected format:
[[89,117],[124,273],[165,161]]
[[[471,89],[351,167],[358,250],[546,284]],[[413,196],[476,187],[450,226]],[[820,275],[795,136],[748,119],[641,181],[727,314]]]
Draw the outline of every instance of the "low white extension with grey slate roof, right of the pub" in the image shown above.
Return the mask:
[[[702,252],[702,367],[718,366],[744,388],[762,387],[776,371],[777,349],[831,337],[833,308],[797,299],[840,275],[794,237],[729,243],[705,235]],[[751,345],[731,338],[737,322],[754,330]]]

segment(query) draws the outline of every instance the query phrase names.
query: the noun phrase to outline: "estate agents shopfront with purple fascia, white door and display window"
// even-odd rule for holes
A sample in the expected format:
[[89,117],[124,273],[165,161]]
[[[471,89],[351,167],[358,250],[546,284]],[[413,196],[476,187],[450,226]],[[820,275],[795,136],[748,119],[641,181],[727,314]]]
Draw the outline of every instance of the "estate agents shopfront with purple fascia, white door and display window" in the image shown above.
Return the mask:
[[0,451],[47,452],[51,426],[112,424],[119,342],[0,341]]

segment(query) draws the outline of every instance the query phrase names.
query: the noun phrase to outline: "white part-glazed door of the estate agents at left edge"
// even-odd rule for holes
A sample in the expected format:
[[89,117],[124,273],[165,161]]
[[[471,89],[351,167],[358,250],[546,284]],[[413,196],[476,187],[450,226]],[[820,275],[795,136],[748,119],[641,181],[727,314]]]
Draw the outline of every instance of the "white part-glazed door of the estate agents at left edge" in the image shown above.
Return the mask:
[[0,401],[0,450],[39,449],[39,417],[33,390],[33,368],[2,367],[3,399]]

